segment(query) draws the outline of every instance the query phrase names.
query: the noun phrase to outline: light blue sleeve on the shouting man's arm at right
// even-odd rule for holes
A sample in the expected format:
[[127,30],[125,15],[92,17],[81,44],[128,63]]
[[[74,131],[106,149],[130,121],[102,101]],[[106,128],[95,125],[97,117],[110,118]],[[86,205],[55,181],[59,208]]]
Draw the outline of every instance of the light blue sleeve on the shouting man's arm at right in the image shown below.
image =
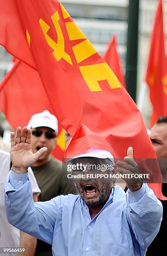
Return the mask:
[[146,249],[158,233],[162,220],[162,204],[143,183],[141,189],[127,190],[127,218],[141,248]]

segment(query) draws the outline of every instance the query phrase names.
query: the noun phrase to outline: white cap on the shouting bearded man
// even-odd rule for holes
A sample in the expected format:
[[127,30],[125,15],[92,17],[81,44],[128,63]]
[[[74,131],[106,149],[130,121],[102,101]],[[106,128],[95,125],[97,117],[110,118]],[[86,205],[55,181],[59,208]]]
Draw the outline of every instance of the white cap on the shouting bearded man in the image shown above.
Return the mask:
[[89,148],[86,153],[74,156],[72,159],[79,157],[96,157],[106,159],[109,158],[111,161],[114,161],[114,156],[110,153],[110,151],[101,148]]

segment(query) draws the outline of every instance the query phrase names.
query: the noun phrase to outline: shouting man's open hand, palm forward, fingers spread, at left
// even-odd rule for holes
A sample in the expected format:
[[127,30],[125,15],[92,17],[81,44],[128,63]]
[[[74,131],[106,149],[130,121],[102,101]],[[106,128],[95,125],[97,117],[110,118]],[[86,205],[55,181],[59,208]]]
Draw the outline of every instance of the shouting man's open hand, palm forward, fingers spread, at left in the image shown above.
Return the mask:
[[17,173],[25,173],[29,166],[33,165],[48,149],[46,147],[40,148],[35,154],[31,149],[31,129],[26,126],[18,127],[16,135],[11,133],[11,161],[12,169]]

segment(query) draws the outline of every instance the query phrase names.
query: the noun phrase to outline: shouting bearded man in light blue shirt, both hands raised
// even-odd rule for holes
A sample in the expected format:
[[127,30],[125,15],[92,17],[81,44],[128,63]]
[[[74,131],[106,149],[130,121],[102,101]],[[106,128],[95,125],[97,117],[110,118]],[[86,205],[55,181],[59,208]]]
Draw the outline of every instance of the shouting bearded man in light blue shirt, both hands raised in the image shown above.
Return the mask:
[[[52,244],[54,256],[86,253],[91,256],[144,256],[162,220],[162,204],[152,189],[141,179],[125,179],[129,187],[125,194],[119,186],[114,187],[114,179],[84,176],[75,181],[79,195],[61,195],[47,202],[34,203],[28,192],[27,166],[34,165],[46,150],[43,147],[33,154],[31,130],[26,127],[23,130],[18,128],[16,136],[11,134],[13,168],[5,184],[9,222]],[[86,154],[72,159],[71,163],[89,161],[90,164],[102,165],[113,163],[111,159],[109,151],[90,148]],[[105,172],[139,172],[132,147],[128,148],[124,161],[117,161],[116,169]]]

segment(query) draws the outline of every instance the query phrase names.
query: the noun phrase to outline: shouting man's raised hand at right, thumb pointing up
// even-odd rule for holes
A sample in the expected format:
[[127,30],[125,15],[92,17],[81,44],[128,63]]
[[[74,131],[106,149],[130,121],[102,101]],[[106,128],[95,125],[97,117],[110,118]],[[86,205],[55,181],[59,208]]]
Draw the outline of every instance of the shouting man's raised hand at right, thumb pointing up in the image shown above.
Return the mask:
[[[127,156],[124,157],[124,161],[117,161],[116,171],[120,174],[139,174],[139,166],[133,159],[133,148],[129,147],[127,150]],[[143,181],[140,178],[124,179],[127,183],[127,187],[132,191],[137,191],[142,187]]]

